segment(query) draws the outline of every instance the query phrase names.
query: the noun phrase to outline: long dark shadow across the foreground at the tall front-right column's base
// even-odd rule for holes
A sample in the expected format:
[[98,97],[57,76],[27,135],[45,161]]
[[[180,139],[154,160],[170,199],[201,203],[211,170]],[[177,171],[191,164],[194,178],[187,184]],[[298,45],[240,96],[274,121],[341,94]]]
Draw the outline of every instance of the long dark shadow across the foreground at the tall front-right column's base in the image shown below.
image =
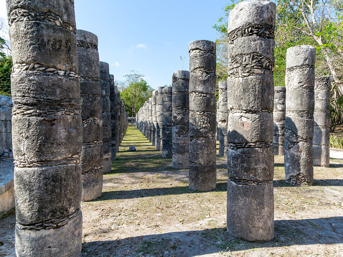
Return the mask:
[[[220,251],[265,250],[292,245],[343,243],[343,217],[277,220],[270,242],[245,242],[232,238],[226,228],[158,233],[120,240],[84,243],[82,256],[202,256]],[[286,249],[285,249],[286,251]],[[287,252],[287,251],[286,251]],[[96,255],[98,256],[98,255]]]

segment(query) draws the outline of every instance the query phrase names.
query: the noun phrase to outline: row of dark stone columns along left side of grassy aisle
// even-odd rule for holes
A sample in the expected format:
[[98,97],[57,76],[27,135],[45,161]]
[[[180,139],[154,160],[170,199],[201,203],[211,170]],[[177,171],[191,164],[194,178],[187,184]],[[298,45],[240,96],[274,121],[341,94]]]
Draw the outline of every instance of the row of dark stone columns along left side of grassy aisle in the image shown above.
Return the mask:
[[76,30],[73,1],[43,2],[6,2],[16,256],[80,256],[80,202],[101,195],[127,114],[97,36]]

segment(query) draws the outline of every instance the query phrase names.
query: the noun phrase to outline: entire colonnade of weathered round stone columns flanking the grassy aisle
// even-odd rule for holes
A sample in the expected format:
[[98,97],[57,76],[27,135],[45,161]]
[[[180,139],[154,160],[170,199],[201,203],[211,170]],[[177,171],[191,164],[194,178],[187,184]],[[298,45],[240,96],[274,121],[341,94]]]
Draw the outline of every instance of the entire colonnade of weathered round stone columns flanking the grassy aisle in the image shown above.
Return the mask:
[[[109,65],[99,62],[97,36],[76,30],[73,1],[6,4],[16,256],[80,256],[80,202],[102,193],[128,127],[125,105]],[[330,77],[315,79],[315,47],[291,47],[286,91],[276,88],[274,101],[275,13],[267,0],[230,11],[228,79],[219,83],[227,231],[249,241],[274,236],[274,153],[282,153],[282,137],[287,183],[311,185],[313,164],[329,165]],[[137,127],[174,168],[189,168],[190,189],[209,191],[216,188],[216,45],[194,41],[189,55],[190,72],[176,71],[172,86],[153,92]]]

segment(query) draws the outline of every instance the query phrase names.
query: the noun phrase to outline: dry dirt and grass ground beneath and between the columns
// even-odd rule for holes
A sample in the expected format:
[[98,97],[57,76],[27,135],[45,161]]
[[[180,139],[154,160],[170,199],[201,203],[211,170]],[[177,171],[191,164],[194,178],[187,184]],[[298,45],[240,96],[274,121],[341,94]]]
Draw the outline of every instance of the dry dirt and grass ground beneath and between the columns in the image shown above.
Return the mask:
[[[275,238],[245,242],[226,232],[225,157],[217,156],[216,190],[193,191],[188,170],[173,169],[129,127],[102,196],[81,204],[82,256],[343,256],[343,160],[314,167],[314,177],[313,186],[289,186],[275,156]],[[0,256],[15,256],[14,224],[13,213],[0,220]]]

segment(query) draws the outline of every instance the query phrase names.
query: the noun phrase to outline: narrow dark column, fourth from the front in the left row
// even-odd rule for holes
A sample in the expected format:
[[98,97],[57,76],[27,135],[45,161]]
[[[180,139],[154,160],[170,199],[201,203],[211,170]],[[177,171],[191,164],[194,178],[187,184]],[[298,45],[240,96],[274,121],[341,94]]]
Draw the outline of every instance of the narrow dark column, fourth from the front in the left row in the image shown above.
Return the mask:
[[117,159],[116,153],[116,99],[117,99],[117,86],[114,84],[114,76],[110,76],[110,107],[111,107],[111,160]]

